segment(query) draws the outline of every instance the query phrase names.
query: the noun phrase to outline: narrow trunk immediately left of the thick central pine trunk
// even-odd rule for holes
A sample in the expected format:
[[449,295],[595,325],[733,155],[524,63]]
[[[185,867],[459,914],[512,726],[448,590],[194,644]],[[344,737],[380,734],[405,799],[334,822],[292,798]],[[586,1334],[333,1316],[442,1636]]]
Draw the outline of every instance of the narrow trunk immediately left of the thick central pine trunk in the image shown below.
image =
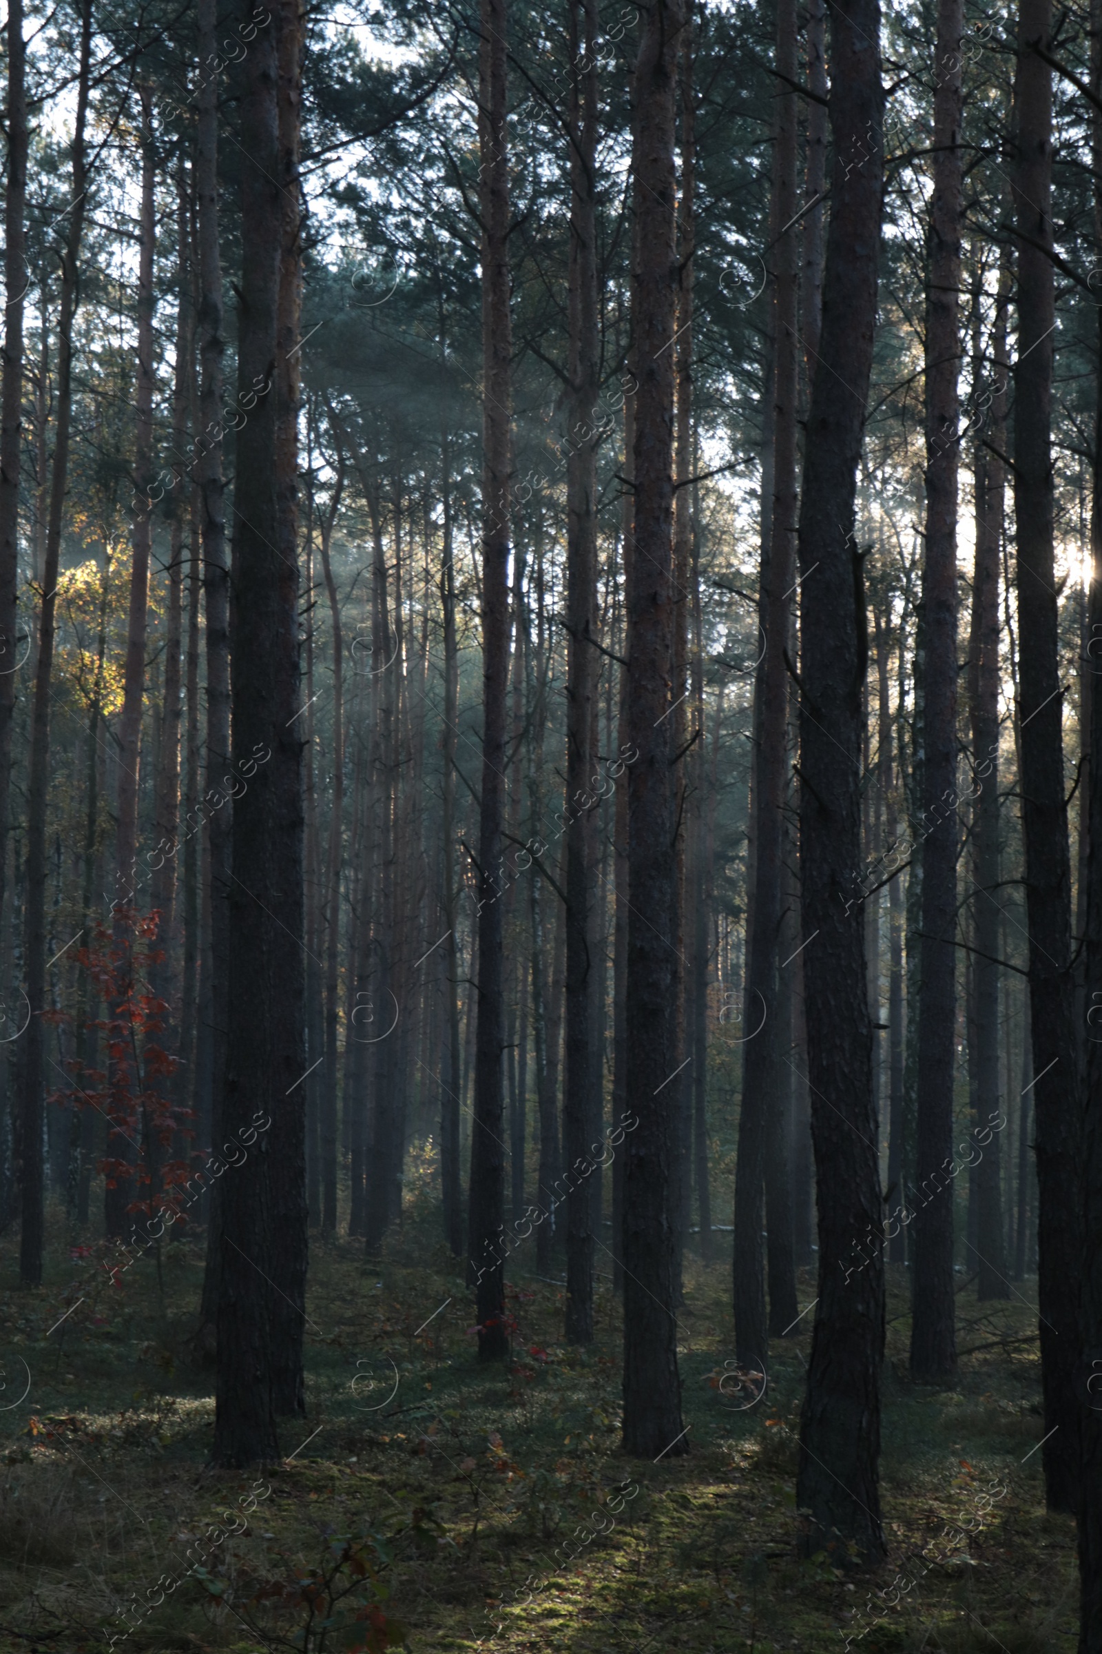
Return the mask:
[[[567,1034],[563,1158],[590,1153],[593,1095],[593,973],[596,969],[595,827],[585,807],[595,766],[596,690],[596,3],[570,0],[570,453],[567,458]],[[567,1340],[593,1341],[593,1188],[567,1196]]]

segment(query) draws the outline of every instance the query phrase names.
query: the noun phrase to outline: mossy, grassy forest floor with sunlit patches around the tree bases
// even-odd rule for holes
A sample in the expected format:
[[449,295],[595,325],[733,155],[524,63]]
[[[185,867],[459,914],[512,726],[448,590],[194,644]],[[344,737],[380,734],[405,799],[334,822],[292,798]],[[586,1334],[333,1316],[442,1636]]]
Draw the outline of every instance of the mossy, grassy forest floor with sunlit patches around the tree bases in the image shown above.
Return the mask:
[[[687,1257],[691,1451],[641,1464],[618,1449],[608,1274],[591,1350],[567,1348],[563,1288],[522,1272],[535,1269],[527,1242],[509,1267],[514,1360],[491,1370],[436,1234],[415,1216],[372,1267],[359,1245],[312,1237],[307,1414],[283,1422],[287,1457],[263,1475],[207,1465],[213,1374],[188,1361],[197,1239],[164,1244],[160,1290],[152,1250],[112,1285],[101,1264],[114,1254],[74,1257],[55,1216],[46,1282],[26,1292],[5,1237],[0,1647],[71,1654],[114,1636],[132,1654],[311,1654],[406,1636],[415,1651],[816,1654],[861,1636],[872,1654],[1074,1649],[1074,1527],[1046,1515],[1036,1451],[1036,1280],[980,1305],[962,1277],[948,1393],[907,1378],[905,1277],[889,1272],[891,1556],[851,1575],[795,1556],[811,1317],[773,1340],[753,1401],[732,1374],[729,1262]],[[800,1305],[813,1293],[803,1277]],[[967,1518],[970,1538],[942,1537]],[[892,1589],[924,1546],[915,1583]]]

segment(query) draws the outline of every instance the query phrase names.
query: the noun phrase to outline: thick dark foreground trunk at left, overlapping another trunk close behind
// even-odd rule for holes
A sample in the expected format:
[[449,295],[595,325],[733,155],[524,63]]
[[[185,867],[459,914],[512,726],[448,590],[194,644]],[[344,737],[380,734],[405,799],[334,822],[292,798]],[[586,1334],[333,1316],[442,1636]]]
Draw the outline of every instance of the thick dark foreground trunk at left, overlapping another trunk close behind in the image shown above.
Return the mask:
[[[296,1280],[276,1262],[273,1227],[286,1222],[268,1163],[294,1125],[302,1090],[302,968],[287,931],[301,936],[302,804],[297,650],[297,567],[283,534],[279,460],[283,172],[279,71],[283,13],[258,33],[240,71],[241,303],[240,394],[259,395],[238,432],[231,615],[233,753],[249,772],[233,812],[228,1039],[221,1131],[249,1141],[273,1126],[264,1150],[233,1171],[221,1202],[218,1378],[213,1459],[246,1465],[276,1459],[273,1285]],[[271,1113],[268,1110],[271,1108]],[[291,1116],[291,1118],[287,1118]],[[218,1136],[221,1136],[221,1131]],[[301,1146],[299,1146],[301,1154]],[[301,1325],[301,1310],[296,1307]],[[301,1335],[299,1335],[301,1336]],[[286,1398],[279,1398],[283,1401]]]

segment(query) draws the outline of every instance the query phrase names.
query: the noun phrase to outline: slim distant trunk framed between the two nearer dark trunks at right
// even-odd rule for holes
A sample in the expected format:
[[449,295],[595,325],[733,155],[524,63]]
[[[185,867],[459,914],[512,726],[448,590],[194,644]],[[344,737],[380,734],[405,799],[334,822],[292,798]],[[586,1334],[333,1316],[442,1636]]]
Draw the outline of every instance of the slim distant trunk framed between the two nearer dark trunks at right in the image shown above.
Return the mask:
[[[1000,283],[995,319],[995,372],[1006,377],[1006,298]],[[983,375],[980,324],[973,352],[973,395]],[[993,425],[1005,425],[1006,392],[998,395]],[[996,447],[1003,452],[1005,437]],[[968,647],[968,718],[971,723],[973,791],[983,787],[973,807],[971,822],[971,991],[975,1002],[975,1098],[976,1131],[983,1159],[975,1168],[976,1239],[971,1265],[980,1272],[980,1300],[1009,1298],[1003,1231],[1003,1138],[991,1131],[1000,1111],[998,1067],[998,954],[1001,911],[1000,878],[1000,802],[998,802],[998,564],[1003,541],[1003,476],[998,453],[991,453],[980,437],[973,453],[973,493],[976,518],[976,554],[971,579],[971,637]]]

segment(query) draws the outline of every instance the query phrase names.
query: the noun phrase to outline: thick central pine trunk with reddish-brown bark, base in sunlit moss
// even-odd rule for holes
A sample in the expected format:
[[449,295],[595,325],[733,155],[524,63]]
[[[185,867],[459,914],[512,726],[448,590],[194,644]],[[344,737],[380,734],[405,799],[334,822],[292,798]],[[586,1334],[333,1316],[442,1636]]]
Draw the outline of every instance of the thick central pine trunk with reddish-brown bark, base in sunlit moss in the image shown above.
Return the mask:
[[634,407],[634,551],[628,590],[628,718],[638,758],[628,771],[628,1107],[623,1269],[623,1446],[629,1454],[687,1451],[681,1421],[672,951],[674,772],[672,425],[677,298],[674,106],[679,0],[644,15],[633,83],[636,251],[631,327],[639,387]]

